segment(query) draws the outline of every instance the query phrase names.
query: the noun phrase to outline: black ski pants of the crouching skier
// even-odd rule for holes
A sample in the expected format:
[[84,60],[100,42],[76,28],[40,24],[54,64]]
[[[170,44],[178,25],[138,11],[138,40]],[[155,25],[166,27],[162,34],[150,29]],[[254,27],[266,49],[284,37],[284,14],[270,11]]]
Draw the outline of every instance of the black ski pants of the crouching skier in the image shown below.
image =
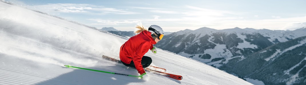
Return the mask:
[[[122,61],[121,61],[121,62],[122,62]],[[123,63],[125,66],[129,66],[129,67],[134,67],[134,68],[135,68],[135,64],[134,64],[133,60],[131,61],[130,64],[126,64],[126,63],[124,63],[124,62],[122,62],[122,63]],[[141,65],[142,65],[143,68],[146,68],[146,67],[150,66],[151,63],[152,63],[152,59],[151,59],[150,57],[148,57],[148,56],[143,56],[143,57],[141,58]]]

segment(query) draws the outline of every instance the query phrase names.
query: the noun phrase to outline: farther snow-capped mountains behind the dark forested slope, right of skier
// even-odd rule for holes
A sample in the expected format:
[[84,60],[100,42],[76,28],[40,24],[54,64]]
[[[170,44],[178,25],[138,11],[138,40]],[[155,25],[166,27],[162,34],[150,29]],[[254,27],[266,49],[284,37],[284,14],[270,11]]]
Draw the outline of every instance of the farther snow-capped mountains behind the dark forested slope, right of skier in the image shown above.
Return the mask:
[[203,27],[174,32],[156,47],[189,57],[203,63],[233,56],[249,55],[279,42],[306,36],[305,28],[294,31],[233,28],[216,30]]

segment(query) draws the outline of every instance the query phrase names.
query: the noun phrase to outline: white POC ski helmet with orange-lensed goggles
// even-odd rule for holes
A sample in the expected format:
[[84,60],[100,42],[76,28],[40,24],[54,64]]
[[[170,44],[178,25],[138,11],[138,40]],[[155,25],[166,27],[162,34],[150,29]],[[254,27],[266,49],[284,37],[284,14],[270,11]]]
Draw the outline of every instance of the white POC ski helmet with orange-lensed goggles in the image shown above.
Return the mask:
[[164,36],[164,30],[162,30],[162,28],[159,27],[158,25],[151,25],[148,30],[149,32],[151,32],[151,36],[153,39],[156,39],[156,38],[162,39],[162,37]]

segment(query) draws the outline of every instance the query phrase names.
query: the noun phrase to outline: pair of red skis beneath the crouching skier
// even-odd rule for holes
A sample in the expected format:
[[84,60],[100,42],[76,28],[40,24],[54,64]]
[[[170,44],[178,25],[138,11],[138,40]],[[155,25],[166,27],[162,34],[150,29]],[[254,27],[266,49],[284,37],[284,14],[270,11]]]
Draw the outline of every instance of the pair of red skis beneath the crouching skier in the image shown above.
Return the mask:
[[[114,58],[111,58],[111,57],[108,57],[108,56],[104,56],[103,55],[102,58],[110,60],[110,61],[113,61],[113,62],[121,63],[120,60],[117,60],[117,59],[114,59]],[[152,67],[159,68],[159,67],[155,67],[155,66],[152,66]],[[160,69],[163,69],[163,68],[160,68]],[[161,71],[157,71],[157,70],[152,70],[152,69],[150,69],[148,67],[145,68],[144,70],[149,71],[150,73],[155,73],[155,74],[163,75],[163,76],[170,77],[170,78],[173,78],[173,79],[176,79],[176,80],[182,80],[183,79],[183,77],[180,76],[180,75],[174,75],[174,74],[165,73],[165,72],[161,72]],[[166,69],[164,69],[164,70],[166,70]]]

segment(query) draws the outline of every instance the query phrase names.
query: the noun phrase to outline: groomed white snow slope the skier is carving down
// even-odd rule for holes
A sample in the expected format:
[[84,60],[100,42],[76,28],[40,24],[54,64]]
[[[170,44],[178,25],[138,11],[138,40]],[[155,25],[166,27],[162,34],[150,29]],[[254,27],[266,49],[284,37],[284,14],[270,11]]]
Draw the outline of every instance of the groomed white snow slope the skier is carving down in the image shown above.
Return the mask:
[[146,81],[66,68],[63,65],[139,75],[135,69],[101,58],[118,56],[125,39],[4,2],[0,2],[0,36],[1,85],[251,85],[224,71],[161,49],[156,55],[148,52],[146,56],[152,58],[154,66],[181,75],[182,80],[147,73]]

